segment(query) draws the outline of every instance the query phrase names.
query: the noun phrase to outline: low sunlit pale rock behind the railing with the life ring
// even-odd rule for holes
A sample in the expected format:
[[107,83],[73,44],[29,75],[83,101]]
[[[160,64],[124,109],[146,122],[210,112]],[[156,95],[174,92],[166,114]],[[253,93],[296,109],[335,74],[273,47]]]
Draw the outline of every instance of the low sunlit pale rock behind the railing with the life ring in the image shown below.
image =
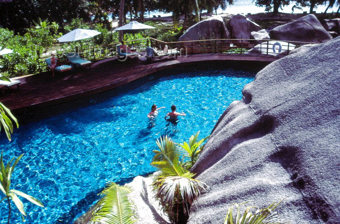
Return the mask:
[[[276,43],[279,43],[281,45],[281,49],[280,49],[280,45]],[[287,50],[292,50],[295,47],[296,47],[295,45],[290,44],[288,42],[284,42],[284,41],[266,41],[266,42],[256,45],[254,48],[250,50],[247,50],[247,52],[245,53],[246,54],[268,54],[268,55],[288,54]]]

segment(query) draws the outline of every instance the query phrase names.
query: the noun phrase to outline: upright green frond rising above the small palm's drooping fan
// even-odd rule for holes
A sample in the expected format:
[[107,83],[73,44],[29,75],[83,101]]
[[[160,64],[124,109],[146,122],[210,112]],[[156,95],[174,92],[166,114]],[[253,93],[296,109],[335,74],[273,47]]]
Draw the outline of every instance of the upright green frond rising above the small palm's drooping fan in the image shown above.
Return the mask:
[[185,173],[180,163],[180,151],[175,143],[168,137],[161,137],[156,141],[160,151],[154,150],[155,156],[151,165],[162,172],[163,176],[182,176]]

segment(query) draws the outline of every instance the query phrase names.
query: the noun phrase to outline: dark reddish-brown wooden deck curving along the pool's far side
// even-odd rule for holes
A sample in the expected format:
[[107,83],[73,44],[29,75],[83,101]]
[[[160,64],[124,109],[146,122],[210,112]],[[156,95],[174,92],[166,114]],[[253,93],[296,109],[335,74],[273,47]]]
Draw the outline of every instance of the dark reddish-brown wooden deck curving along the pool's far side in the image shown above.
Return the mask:
[[[154,72],[194,64],[213,64],[214,62],[261,62],[269,64],[278,58],[268,56],[230,55],[223,53],[195,54],[175,59],[154,60],[146,63],[145,57],[119,62],[116,58],[105,59],[89,68],[71,71],[68,74],[51,73],[23,77],[19,91],[7,90],[0,96],[0,102],[18,115],[26,110],[41,106],[49,107],[107,91]],[[254,64],[254,63],[253,63]],[[246,66],[246,65],[245,65]]]

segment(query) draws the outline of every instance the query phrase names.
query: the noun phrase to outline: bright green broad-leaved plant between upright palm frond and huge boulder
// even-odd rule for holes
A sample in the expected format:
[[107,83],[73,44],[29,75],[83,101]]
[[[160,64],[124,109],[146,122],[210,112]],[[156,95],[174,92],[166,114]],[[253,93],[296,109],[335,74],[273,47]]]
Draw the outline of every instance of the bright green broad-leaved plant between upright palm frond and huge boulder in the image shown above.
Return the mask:
[[200,131],[197,131],[195,135],[191,135],[189,139],[189,144],[187,144],[186,142],[183,142],[183,144],[177,144],[182,147],[182,154],[186,159],[188,159],[188,161],[183,164],[186,169],[190,169],[194,165],[203,148],[203,146],[200,147],[200,145],[210,137],[209,135],[197,142],[199,134]]

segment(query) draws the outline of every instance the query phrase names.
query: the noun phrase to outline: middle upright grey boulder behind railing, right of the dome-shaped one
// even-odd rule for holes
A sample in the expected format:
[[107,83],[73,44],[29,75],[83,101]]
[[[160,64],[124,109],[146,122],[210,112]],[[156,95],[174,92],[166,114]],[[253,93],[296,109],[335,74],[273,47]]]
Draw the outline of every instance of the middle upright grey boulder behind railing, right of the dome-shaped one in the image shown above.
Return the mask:
[[228,29],[232,39],[250,39],[251,32],[261,30],[255,22],[242,14],[235,15],[228,21]]

